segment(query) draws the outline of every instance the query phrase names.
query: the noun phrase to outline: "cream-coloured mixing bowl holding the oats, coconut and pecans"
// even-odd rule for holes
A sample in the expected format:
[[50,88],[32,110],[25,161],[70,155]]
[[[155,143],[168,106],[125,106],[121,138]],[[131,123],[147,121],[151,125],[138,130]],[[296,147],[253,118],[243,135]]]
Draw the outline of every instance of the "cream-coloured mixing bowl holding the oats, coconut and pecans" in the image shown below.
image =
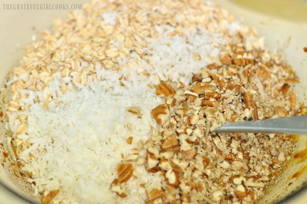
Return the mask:
[[[283,14],[283,17],[280,17],[281,15],[270,15],[267,12],[259,12],[250,9],[248,6],[237,4],[236,2],[239,0],[235,2],[230,0],[213,1],[216,1],[222,7],[229,10],[237,20],[242,19],[245,25],[255,27],[259,36],[263,36],[265,38],[265,45],[267,48],[271,50],[283,50],[289,64],[293,66],[294,70],[301,79],[301,83],[296,86],[298,98],[301,102],[306,102],[306,96],[304,93],[306,93],[307,87],[307,52],[303,51],[303,48],[307,47],[306,15],[300,15],[300,13],[298,13],[296,18],[293,18],[293,16],[289,16],[289,18],[287,18],[287,10],[283,10],[284,12],[281,13]],[[65,1],[65,3],[69,4],[85,2],[86,0]],[[256,4],[259,5],[259,3],[263,3],[265,1],[257,0],[253,2],[256,7]],[[278,3],[276,1],[274,2],[275,4]],[[272,11],[272,13],[278,14],[280,11],[277,9],[280,9],[281,6],[274,6],[274,2],[267,5],[270,6],[269,8],[265,7],[264,5],[264,10]],[[292,14],[293,12],[299,12],[299,10],[302,10],[300,5],[307,6],[307,2],[291,3],[295,2],[295,0],[287,0],[287,2],[287,9],[289,9],[289,13],[291,13],[291,10]],[[18,60],[23,54],[23,48],[25,45],[31,43],[32,36],[36,35],[38,37],[40,31],[50,28],[54,17],[60,16],[64,18],[68,12],[68,10],[4,10],[2,8],[2,3],[24,3],[24,1],[14,0],[1,2],[0,85],[3,85],[5,76],[10,69],[18,64]],[[27,3],[42,3],[42,1],[31,0],[31,2],[28,1]],[[63,3],[63,1],[48,0],[44,1],[44,3]],[[2,108],[1,105],[0,108]],[[1,123],[0,143],[3,143],[4,139],[4,125]],[[298,143],[298,149],[294,150],[294,152],[306,150],[302,153],[304,154],[303,157],[307,157],[307,137],[300,136]],[[1,156],[3,156],[2,153],[0,153],[0,157]],[[289,204],[307,204],[307,173],[302,170],[304,166],[307,167],[307,160],[300,158],[293,159],[285,171],[277,178],[276,184],[268,187],[265,196],[258,201],[258,203],[282,202]],[[301,175],[298,178],[292,178],[298,171]],[[21,182],[19,182],[18,179],[15,179],[14,176],[12,176],[12,171],[4,169],[2,165],[0,165],[0,204],[23,204],[32,201],[33,198],[31,195],[29,195],[27,191],[24,191],[26,187],[22,187],[20,183]]]

